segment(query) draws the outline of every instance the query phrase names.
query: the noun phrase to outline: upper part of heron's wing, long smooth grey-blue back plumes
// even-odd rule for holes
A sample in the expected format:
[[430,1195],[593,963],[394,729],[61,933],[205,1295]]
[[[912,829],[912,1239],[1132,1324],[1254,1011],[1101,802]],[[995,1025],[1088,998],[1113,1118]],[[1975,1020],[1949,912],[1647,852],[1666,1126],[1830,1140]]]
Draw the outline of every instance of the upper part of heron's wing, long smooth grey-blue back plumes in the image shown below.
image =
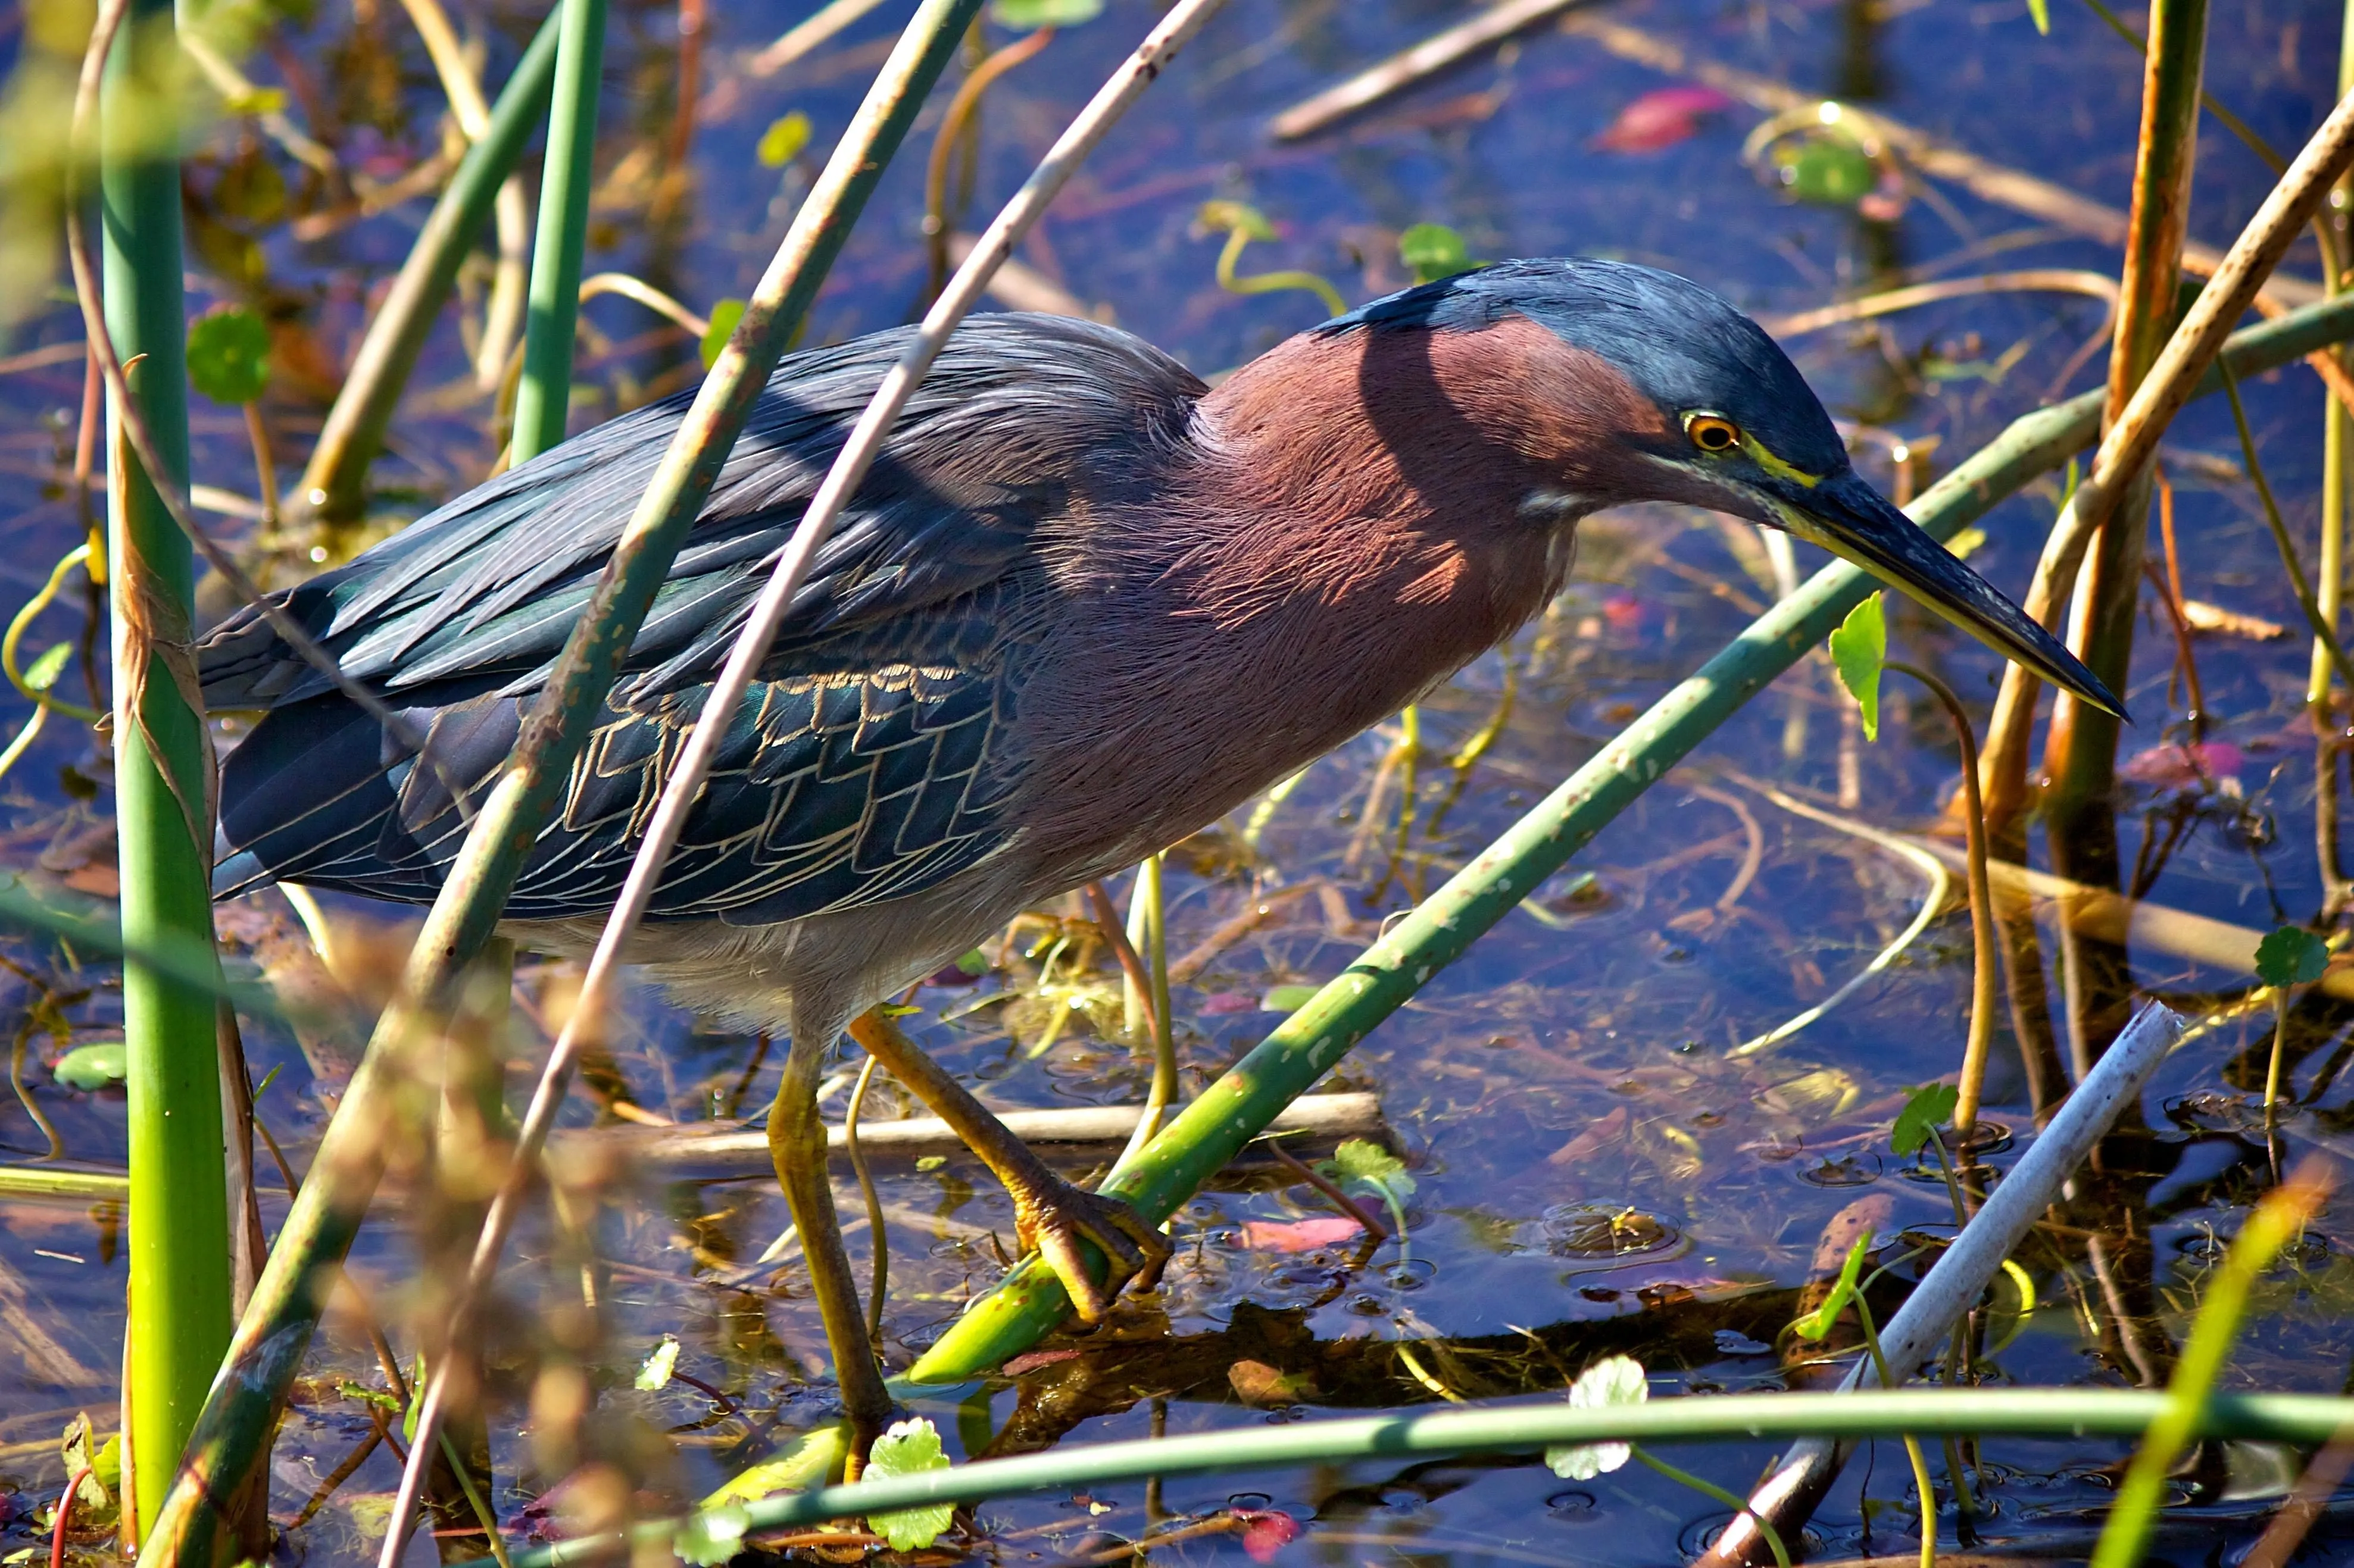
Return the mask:
[[[711,678],[850,424],[906,332],[779,365],[720,469],[624,662],[624,690]],[[1029,563],[1040,520],[1121,485],[1139,445],[1182,428],[1201,384],[1135,337],[1052,315],[970,320],[916,391],[793,598],[770,671],[803,669],[845,633],[899,657],[967,652],[972,626],[935,607]],[[417,520],[282,603],[386,697],[497,678],[537,690],[579,622],[690,398],[586,431]],[[942,640],[942,647],[932,647]],[[824,662],[824,657],[819,657]],[[212,709],[268,709],[332,690],[245,607],[198,647]]]

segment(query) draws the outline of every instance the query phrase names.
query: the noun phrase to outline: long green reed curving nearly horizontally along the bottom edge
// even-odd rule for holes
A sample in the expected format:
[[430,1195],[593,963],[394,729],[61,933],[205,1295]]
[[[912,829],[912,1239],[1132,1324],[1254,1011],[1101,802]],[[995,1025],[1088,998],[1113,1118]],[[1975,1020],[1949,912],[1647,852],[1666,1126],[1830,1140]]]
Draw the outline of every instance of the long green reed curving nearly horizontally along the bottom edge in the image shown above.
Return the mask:
[[[1751,1443],[1761,1439],[1883,1439],[1907,1431],[2017,1436],[2140,1436],[2166,1410],[2166,1394],[2142,1389],[1850,1389],[1846,1394],[1718,1394],[1655,1398],[1641,1406],[1568,1403],[1448,1406],[1443,1410],[1356,1415],[1229,1427],[1186,1436],[1052,1448],[1015,1460],[979,1460],[920,1476],[779,1493],[742,1504],[744,1533],[880,1514],[942,1502],[989,1502],[1029,1493],[1071,1493],[1149,1476],[1208,1476],[1351,1460],[1464,1453],[1540,1453],[1563,1443]],[[2354,1420],[2354,1401],[2330,1394],[2217,1394],[2192,1434],[2326,1443]],[[619,1561],[631,1544],[666,1547],[685,1521],[643,1523],[513,1554],[513,1568]],[[490,1568],[459,1563],[457,1568]]]

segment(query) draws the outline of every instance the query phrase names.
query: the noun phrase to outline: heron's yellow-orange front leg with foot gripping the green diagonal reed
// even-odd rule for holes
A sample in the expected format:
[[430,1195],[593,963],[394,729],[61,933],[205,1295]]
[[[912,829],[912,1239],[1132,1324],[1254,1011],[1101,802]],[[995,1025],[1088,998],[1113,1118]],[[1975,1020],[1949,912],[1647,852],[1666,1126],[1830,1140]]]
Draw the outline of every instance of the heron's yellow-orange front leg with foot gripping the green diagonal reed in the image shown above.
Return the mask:
[[[1015,1201],[1015,1236],[1022,1241],[1022,1250],[1036,1250],[1045,1257],[1083,1321],[1095,1323],[1111,1311],[1111,1297],[1130,1276],[1144,1288],[1161,1278],[1161,1269],[1170,1260],[1170,1243],[1144,1222],[1144,1215],[1118,1198],[1071,1187],[1048,1170],[1029,1144],[1008,1132],[1005,1123],[991,1116],[989,1107],[975,1099],[963,1083],[942,1071],[939,1062],[923,1055],[883,1010],[862,1012],[850,1024],[850,1038],[932,1107],[932,1114],[949,1123],[1005,1184]],[[1090,1274],[1080,1241],[1092,1241],[1109,1260],[1111,1269],[1104,1283]]]

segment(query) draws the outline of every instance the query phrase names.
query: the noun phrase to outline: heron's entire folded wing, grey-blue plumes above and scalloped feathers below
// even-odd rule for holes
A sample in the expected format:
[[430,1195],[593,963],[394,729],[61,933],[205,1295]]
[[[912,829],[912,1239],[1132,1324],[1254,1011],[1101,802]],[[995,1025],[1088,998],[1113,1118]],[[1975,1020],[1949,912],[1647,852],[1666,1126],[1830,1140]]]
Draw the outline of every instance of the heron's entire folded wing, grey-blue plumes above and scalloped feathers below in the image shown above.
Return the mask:
[[[967,334],[793,600],[657,916],[760,923],[902,897],[1010,841],[1024,640],[1052,614],[1033,534],[1073,494],[1135,483],[1139,443],[1175,438],[1198,384],[1085,323],[982,318]],[[610,909],[709,680],[899,341],[779,370],[511,913]],[[464,838],[452,786],[480,798],[513,756],[678,417],[647,410],[565,443],[287,596],[428,737],[421,763],[259,617],[205,640],[207,699],[271,709],[224,770],[217,890],[282,878],[405,902],[438,892]]]

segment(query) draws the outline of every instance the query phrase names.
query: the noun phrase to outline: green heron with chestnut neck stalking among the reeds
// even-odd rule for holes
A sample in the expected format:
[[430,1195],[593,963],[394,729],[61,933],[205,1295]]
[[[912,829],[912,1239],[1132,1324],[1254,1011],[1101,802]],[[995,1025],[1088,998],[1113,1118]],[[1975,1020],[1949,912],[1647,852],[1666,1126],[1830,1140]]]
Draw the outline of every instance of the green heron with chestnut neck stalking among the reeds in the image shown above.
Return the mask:
[[[904,341],[777,367],[516,885],[525,946],[593,944],[730,640]],[[264,709],[224,768],[217,892],[435,895],[464,831],[450,784],[487,789],[516,746],[685,407],[577,436],[280,596],[431,765],[254,610],[205,638],[205,702]],[[814,1104],[845,1026],[1502,643],[1563,586],[1577,520],[1622,501],[1789,530],[2119,706],[1855,473],[1756,323],[1671,273],[1462,273],[1217,391],[1083,320],[984,315],[951,339],[800,589],[631,949],[685,1005],[791,1034],[770,1142],[855,1415],[880,1382]],[[857,1038],[1008,1184],[1080,1316],[1158,1271],[1168,1245],[1132,1210],[1057,1180],[892,1031]]]

